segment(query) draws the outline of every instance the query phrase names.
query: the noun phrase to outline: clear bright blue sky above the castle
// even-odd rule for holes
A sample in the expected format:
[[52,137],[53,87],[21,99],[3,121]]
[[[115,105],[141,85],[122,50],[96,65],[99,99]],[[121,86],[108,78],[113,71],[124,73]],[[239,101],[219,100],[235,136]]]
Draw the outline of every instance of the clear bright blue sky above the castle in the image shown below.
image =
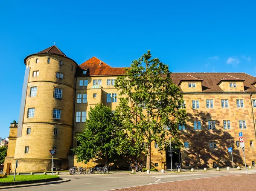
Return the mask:
[[172,72],[256,76],[256,2],[1,0],[0,137],[18,121],[24,58],[55,45],[78,64],[128,67],[147,50]]

